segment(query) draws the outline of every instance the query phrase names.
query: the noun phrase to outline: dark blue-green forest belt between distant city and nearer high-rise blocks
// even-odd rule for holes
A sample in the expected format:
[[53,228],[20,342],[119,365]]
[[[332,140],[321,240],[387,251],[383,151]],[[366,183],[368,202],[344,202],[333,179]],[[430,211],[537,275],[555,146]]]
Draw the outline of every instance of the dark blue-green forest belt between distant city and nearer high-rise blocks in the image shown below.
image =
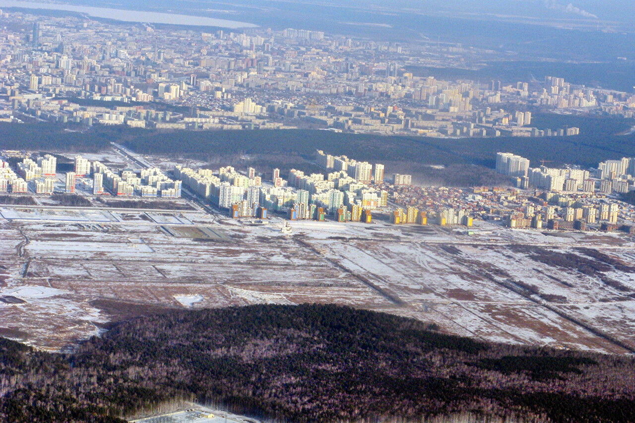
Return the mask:
[[[54,123],[0,123],[0,149],[95,152],[120,142],[141,154],[213,161],[219,156],[271,155],[291,162],[313,159],[315,150],[367,161],[396,161],[417,165],[478,164],[493,167],[495,154],[520,154],[538,166],[540,160],[558,164],[597,166],[599,161],[635,156],[635,135],[618,135],[632,122],[612,117],[537,114],[538,128],[578,126],[573,137],[430,138],[333,133],[322,130],[184,131],[145,130],[124,126],[81,128]],[[184,140],[186,142],[184,142]],[[276,163],[280,164],[280,163]]]

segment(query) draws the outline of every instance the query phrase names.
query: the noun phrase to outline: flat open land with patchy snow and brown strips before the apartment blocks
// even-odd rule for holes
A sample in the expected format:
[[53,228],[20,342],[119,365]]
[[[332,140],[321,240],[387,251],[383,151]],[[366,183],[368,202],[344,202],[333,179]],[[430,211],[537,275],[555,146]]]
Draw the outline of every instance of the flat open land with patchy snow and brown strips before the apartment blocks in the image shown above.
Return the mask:
[[477,339],[635,351],[628,234],[265,224],[190,211],[3,206],[0,335],[58,351],[173,309],[351,305]]

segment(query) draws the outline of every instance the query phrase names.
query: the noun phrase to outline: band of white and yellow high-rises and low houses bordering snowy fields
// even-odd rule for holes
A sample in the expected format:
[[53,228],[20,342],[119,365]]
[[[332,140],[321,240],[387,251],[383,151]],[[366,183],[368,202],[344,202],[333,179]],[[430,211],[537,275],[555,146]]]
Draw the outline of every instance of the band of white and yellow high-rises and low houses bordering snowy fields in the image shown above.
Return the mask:
[[[123,151],[124,147],[117,145]],[[267,175],[255,168],[237,171],[176,165],[170,170],[142,166],[111,169],[77,155],[74,169],[57,173],[57,158],[6,151],[0,161],[0,192],[13,194],[82,194],[117,198],[180,198],[185,188],[206,205],[232,218],[270,213],[289,220],[366,222],[373,213],[392,224],[438,224],[471,227],[474,219],[502,222],[511,228],[578,231],[635,231],[635,207],[619,194],[635,189],[635,159],[598,164],[596,169],[530,168],[528,159],[498,153],[496,170],[511,177],[505,187],[413,187],[411,175],[384,176],[384,165],[316,152],[323,173],[305,175],[279,169]],[[9,161],[14,163],[11,166]]]

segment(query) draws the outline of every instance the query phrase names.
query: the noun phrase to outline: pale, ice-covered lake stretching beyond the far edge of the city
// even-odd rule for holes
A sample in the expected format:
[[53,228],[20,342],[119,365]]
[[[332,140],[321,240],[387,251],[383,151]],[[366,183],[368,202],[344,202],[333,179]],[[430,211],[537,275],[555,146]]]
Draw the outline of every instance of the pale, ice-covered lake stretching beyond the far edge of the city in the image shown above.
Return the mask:
[[32,1],[0,0],[0,8],[29,8],[48,10],[68,10],[85,13],[96,18],[121,20],[124,22],[144,22],[147,24],[195,25],[201,27],[247,28],[258,25],[238,22],[237,20],[215,19],[171,13],[147,12],[137,10],[121,10],[76,6],[74,4],[36,3]]

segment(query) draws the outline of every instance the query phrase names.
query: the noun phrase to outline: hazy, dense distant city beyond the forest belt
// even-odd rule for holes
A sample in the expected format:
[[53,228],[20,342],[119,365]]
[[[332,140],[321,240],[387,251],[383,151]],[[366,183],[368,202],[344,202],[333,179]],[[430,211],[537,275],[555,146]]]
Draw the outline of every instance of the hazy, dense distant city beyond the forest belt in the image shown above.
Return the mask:
[[635,96],[544,81],[442,81],[500,53],[460,44],[387,43],[324,32],[199,32],[77,17],[1,13],[2,119],[85,126],[245,130],[323,128],[430,137],[571,136],[532,111],[632,117]]

